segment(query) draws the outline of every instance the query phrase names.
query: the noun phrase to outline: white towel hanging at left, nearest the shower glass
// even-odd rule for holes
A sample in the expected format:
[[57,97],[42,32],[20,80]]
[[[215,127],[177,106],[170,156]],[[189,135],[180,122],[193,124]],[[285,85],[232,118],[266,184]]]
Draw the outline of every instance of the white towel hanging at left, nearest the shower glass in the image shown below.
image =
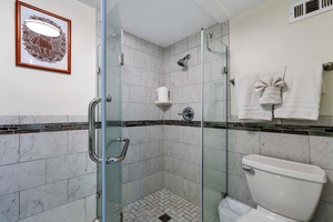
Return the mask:
[[253,90],[260,73],[235,78],[238,115],[240,120],[272,120],[272,105],[259,104],[260,94]]

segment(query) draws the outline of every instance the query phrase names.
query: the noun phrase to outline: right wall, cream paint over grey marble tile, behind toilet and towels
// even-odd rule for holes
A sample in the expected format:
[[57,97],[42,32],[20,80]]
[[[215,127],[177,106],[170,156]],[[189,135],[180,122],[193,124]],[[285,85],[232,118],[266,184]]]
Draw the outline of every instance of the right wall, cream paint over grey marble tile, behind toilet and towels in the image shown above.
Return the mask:
[[[266,1],[230,21],[231,78],[279,65],[331,61],[333,12],[325,12],[289,24],[289,6],[295,0]],[[274,10],[271,10],[274,9]],[[332,48],[332,46],[331,46]],[[242,124],[236,115],[234,87],[231,85],[229,120],[229,195],[255,205],[241,169],[244,155],[258,153],[321,167],[327,173],[313,221],[331,221],[332,202],[332,72],[324,72],[326,93],[322,94],[319,121],[281,121]],[[323,117],[329,115],[329,117]],[[313,127],[311,127],[313,125]]]

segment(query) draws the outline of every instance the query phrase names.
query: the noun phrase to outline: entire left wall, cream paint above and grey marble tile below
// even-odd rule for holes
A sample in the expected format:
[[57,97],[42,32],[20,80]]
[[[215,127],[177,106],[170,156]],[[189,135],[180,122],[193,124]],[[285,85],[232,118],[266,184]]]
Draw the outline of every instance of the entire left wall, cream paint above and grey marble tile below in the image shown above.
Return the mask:
[[91,222],[87,105],[95,93],[95,10],[77,0],[24,2],[71,20],[72,73],[16,67],[16,1],[2,1],[0,221]]

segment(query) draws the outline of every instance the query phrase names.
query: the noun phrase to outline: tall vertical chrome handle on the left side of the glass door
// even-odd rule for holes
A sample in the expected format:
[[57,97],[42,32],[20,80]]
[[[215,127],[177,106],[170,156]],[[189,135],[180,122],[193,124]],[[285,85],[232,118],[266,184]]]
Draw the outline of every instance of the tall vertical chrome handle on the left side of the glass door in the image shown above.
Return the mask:
[[101,98],[94,98],[88,107],[88,152],[90,159],[95,163],[101,163],[102,159],[98,157],[95,149],[95,105],[102,101]]

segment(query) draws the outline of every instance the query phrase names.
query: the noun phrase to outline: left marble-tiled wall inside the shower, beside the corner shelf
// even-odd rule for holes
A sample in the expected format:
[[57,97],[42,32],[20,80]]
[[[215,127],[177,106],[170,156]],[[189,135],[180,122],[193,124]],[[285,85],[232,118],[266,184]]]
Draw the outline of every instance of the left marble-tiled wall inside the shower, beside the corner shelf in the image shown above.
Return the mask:
[[124,32],[123,44],[122,118],[129,123],[123,137],[131,140],[122,169],[127,205],[164,188],[163,125],[144,123],[162,120],[162,111],[154,102],[163,59],[162,48],[130,33]]

